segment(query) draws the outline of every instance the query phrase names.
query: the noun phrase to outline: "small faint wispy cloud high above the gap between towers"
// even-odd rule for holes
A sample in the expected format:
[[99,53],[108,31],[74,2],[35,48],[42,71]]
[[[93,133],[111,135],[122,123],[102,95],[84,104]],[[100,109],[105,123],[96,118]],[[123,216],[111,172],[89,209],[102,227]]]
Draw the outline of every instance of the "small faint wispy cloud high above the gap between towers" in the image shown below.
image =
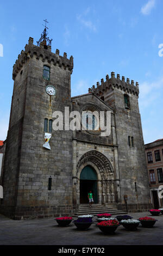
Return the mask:
[[91,31],[96,32],[95,24],[87,17],[90,13],[90,8],[87,8],[83,14],[77,15],[77,20],[86,28],[89,28]]

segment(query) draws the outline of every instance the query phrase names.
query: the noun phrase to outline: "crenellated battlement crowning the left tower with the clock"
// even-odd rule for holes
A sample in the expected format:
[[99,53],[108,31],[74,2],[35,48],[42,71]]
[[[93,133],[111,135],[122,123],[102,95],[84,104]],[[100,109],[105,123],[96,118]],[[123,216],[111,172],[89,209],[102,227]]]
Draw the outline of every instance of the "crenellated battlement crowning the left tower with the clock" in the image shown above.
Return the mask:
[[58,65],[60,68],[73,70],[73,56],[70,59],[67,58],[67,53],[64,52],[64,56],[59,55],[59,50],[57,49],[55,53],[51,52],[51,46],[45,45],[42,42],[40,46],[33,44],[33,38],[29,38],[28,44],[25,46],[25,50],[21,51],[18,58],[13,66],[12,78],[15,80],[17,73],[22,69],[23,64],[30,58],[36,57],[37,60],[41,59],[42,62],[47,61],[53,65]]

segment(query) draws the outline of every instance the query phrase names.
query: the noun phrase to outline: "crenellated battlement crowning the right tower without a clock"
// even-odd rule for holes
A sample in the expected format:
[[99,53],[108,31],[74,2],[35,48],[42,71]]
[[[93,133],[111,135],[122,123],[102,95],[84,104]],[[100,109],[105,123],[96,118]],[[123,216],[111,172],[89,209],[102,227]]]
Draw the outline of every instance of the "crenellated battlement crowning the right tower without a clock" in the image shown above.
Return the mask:
[[114,88],[120,88],[121,90],[124,90],[124,92],[128,92],[131,94],[136,94],[137,96],[139,95],[139,83],[136,82],[134,84],[134,80],[129,80],[129,78],[126,79],[125,77],[122,76],[122,79],[120,79],[120,75],[117,74],[117,77],[115,77],[115,73],[111,72],[111,77],[109,78],[109,75],[106,75],[106,79],[101,79],[101,84],[97,82],[97,86],[95,85],[92,86],[92,88],[89,88],[89,93],[95,93],[95,94],[100,94],[105,92],[107,89],[114,89]]

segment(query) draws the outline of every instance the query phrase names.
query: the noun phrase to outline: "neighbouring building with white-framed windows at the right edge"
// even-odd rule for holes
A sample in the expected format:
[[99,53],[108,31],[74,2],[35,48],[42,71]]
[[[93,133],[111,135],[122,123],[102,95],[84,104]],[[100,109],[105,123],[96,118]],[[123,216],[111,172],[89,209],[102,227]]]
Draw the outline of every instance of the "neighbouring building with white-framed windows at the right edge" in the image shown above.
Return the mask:
[[[163,207],[163,139],[145,144],[151,202],[155,209]],[[160,187],[162,186],[162,188]],[[162,193],[163,196],[163,193]]]

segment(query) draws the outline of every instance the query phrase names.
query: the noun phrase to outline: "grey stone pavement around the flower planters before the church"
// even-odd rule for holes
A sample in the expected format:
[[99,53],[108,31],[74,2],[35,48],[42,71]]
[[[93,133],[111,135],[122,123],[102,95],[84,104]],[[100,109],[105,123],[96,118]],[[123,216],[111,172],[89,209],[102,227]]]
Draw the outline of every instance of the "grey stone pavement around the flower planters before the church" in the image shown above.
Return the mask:
[[[149,212],[129,214],[134,219],[151,216]],[[114,217],[114,216],[113,216]],[[114,235],[104,235],[95,221],[86,231],[71,223],[58,227],[54,218],[14,221],[0,215],[0,245],[163,245],[163,215],[153,228],[127,231],[120,225]]]

